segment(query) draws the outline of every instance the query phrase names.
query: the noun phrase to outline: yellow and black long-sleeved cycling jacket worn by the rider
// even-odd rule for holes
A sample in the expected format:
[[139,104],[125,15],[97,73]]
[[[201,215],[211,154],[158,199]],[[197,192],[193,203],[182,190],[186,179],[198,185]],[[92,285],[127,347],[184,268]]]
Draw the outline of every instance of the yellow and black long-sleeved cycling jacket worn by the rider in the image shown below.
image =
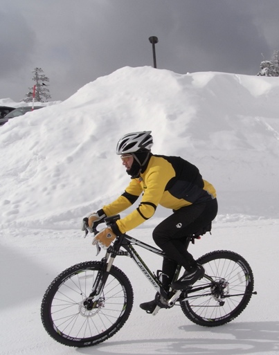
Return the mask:
[[143,194],[136,210],[116,221],[121,233],[139,226],[154,215],[160,204],[165,208],[179,210],[192,203],[215,199],[213,185],[203,180],[195,165],[179,156],[151,154],[140,177],[132,179],[125,192],[102,210],[109,217],[126,210]]

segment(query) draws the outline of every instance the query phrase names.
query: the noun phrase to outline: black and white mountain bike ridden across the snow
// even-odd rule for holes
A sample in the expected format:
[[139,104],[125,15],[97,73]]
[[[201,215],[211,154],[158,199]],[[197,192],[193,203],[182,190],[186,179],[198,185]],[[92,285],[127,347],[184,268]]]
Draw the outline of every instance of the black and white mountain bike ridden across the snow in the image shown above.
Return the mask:
[[[110,226],[119,215],[106,217]],[[94,224],[93,233],[98,233]],[[86,230],[86,234],[88,230]],[[199,235],[187,237],[187,245]],[[160,273],[152,273],[134,246],[161,257],[165,253],[127,234],[116,237],[101,261],[82,262],[60,273],[44,294],[41,307],[42,323],[48,334],[70,347],[87,347],[102,343],[120,330],[132,311],[134,293],[127,275],[114,266],[118,256],[130,257],[156,290],[161,308],[180,305],[184,315],[197,325],[215,327],[231,322],[249,303],[254,278],[248,262],[232,251],[212,251],[199,257],[205,275],[186,290],[166,291]],[[98,247],[100,252],[100,247]],[[179,277],[181,266],[172,282]],[[163,300],[161,302],[160,300]]]

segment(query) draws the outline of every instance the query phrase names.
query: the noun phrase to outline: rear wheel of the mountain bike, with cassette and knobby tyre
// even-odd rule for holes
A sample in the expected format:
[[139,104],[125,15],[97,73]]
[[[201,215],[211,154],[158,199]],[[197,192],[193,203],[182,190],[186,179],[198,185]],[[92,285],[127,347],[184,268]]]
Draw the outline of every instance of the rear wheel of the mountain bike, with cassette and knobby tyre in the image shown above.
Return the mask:
[[254,285],[248,262],[231,251],[213,251],[197,260],[206,275],[188,291],[188,300],[180,302],[183,313],[192,322],[215,327],[231,322],[249,303]]

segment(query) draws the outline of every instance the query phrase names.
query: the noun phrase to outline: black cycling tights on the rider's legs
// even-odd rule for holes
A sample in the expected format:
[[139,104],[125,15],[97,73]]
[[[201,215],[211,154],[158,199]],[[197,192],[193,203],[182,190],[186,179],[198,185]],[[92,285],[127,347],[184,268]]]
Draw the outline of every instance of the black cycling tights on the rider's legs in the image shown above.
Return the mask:
[[163,274],[168,275],[167,278],[163,278],[163,286],[168,286],[172,280],[177,264],[182,265],[186,270],[195,266],[194,258],[187,251],[186,237],[210,224],[215,219],[217,210],[217,199],[193,204],[174,211],[156,226],[153,231],[154,242],[171,259],[163,260]]

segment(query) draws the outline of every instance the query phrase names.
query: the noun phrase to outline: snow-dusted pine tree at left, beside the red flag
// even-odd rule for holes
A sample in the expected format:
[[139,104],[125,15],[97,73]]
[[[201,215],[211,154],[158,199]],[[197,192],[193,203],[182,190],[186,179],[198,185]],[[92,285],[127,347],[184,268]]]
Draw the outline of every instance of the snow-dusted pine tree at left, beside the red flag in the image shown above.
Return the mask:
[[[51,95],[48,90],[49,79],[44,75],[44,71],[42,68],[35,68],[33,71],[33,78],[32,80],[35,82],[35,102],[47,102],[48,99],[51,98]],[[28,88],[28,93],[26,93],[25,98],[23,99],[24,102],[32,102],[33,100],[33,87]]]

